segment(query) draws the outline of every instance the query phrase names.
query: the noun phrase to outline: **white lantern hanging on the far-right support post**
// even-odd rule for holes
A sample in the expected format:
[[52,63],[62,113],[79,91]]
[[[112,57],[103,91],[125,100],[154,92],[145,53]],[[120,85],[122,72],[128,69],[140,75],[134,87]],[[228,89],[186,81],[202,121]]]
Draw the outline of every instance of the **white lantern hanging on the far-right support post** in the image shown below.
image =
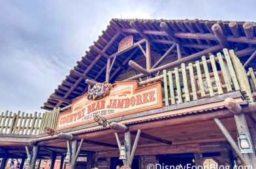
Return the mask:
[[248,136],[244,133],[239,133],[238,146],[242,154],[253,153],[253,146]]

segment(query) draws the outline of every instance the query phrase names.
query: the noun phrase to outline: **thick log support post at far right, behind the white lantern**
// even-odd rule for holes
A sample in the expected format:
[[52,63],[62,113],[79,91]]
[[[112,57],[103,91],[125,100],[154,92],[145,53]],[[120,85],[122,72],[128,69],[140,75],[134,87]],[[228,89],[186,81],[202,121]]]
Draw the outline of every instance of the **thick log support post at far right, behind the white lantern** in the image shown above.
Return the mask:
[[[234,114],[234,120],[236,122],[238,134],[244,133],[246,136],[248,136],[250,142],[253,144],[253,141],[251,140],[251,134],[248,128],[248,123],[246,122],[246,116],[244,114],[241,114],[242,108],[240,107],[240,105],[238,105],[238,103],[236,103],[236,101],[231,98],[225,99],[224,105]],[[246,164],[253,166],[253,168],[256,168],[255,151],[254,153],[244,154],[244,159],[246,161]]]

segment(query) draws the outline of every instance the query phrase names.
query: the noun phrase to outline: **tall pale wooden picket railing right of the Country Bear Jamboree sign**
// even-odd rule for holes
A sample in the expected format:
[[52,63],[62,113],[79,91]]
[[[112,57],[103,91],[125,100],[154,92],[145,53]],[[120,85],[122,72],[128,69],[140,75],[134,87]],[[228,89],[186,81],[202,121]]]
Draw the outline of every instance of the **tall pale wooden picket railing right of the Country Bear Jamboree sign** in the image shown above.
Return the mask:
[[246,70],[233,50],[223,49],[223,55],[202,56],[201,60],[174,70],[163,70],[165,105],[240,91],[252,101]]

